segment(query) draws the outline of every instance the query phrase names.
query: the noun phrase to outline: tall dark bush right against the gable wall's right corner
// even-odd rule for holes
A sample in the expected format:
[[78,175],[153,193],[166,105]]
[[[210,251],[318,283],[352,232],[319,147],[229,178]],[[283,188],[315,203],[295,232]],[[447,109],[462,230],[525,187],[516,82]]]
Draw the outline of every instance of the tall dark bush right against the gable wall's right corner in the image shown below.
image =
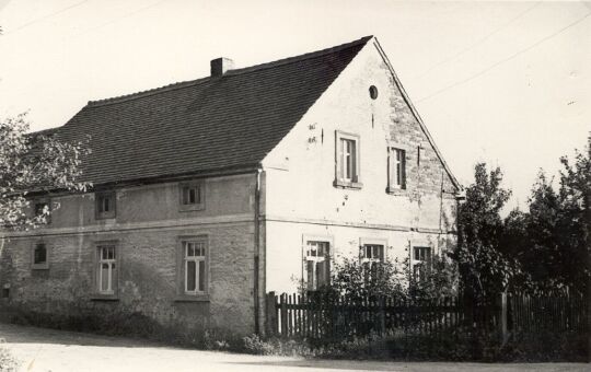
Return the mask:
[[489,298],[505,291],[510,279],[520,272],[518,263],[500,248],[500,211],[511,191],[501,187],[499,167],[488,173],[486,164],[478,163],[474,178],[459,208],[459,244],[452,257],[457,261],[466,294]]

